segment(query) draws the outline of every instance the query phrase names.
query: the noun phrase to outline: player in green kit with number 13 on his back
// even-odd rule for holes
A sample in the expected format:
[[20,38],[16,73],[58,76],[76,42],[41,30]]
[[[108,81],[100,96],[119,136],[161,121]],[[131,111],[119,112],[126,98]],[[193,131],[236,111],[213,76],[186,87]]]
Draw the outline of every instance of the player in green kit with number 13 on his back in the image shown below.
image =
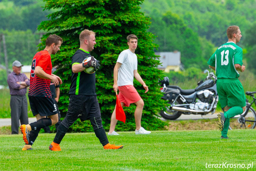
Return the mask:
[[244,72],[243,50],[236,45],[242,37],[238,26],[227,29],[228,42],[220,46],[209,61],[209,67],[216,71],[217,92],[224,113],[218,114],[218,128],[221,139],[228,139],[229,118],[241,114],[246,109],[244,88],[238,80],[238,71]]

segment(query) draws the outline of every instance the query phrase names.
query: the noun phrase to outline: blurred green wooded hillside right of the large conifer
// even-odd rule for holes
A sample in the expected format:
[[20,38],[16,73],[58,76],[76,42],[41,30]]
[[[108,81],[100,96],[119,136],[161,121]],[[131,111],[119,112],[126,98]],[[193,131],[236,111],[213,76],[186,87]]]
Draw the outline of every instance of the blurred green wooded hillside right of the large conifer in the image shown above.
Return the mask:
[[155,51],[181,51],[185,68],[208,68],[209,57],[228,38],[226,29],[238,25],[247,69],[256,62],[256,1],[252,0],[147,0],[141,11],[151,18],[149,31],[157,37]]

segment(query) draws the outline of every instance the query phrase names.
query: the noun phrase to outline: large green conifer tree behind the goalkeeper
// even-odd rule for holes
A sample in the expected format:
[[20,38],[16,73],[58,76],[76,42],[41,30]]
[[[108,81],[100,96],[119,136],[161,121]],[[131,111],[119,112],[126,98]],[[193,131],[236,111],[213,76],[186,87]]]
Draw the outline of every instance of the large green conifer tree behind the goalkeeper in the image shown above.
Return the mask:
[[[45,9],[59,9],[49,15],[49,21],[43,21],[38,27],[63,38],[61,50],[52,55],[53,65],[58,66],[56,75],[63,80],[61,85],[60,109],[66,114],[69,103],[69,86],[71,83],[71,57],[79,48],[79,34],[84,29],[96,32],[96,45],[91,55],[100,60],[101,67],[96,72],[96,91],[101,107],[104,128],[109,128],[110,117],[115,108],[113,91],[113,69],[118,55],[128,48],[126,36],[135,34],[139,38],[135,53],[138,57],[138,72],[149,86],[149,92],[135,79],[134,87],[144,100],[142,126],[148,130],[163,129],[165,123],[154,117],[165,102],[160,100],[162,93],[158,79],[162,71],[158,70],[159,60],[153,48],[154,35],[147,32],[150,18],[139,12],[140,0],[45,0]],[[42,47],[49,34],[42,38]],[[86,80],[84,80],[86,81]],[[135,105],[124,108],[126,123],[118,122],[116,130],[134,131]],[[72,131],[92,131],[90,123],[77,120],[71,126]]]

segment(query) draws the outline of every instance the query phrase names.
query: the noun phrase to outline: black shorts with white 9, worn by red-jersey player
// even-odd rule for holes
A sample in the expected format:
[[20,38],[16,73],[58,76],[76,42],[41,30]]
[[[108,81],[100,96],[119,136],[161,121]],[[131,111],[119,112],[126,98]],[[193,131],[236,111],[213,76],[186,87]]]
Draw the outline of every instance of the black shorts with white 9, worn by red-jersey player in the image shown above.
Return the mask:
[[34,116],[51,116],[58,113],[53,98],[28,96],[28,99]]

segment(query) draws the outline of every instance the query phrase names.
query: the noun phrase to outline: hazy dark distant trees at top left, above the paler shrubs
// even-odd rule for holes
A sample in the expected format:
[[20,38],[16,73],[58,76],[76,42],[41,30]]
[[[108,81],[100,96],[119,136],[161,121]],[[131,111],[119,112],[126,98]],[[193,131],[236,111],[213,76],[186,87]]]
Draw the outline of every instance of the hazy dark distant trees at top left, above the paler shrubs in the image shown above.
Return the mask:
[[36,32],[41,21],[54,10],[43,10],[42,0],[0,0],[0,29]]

